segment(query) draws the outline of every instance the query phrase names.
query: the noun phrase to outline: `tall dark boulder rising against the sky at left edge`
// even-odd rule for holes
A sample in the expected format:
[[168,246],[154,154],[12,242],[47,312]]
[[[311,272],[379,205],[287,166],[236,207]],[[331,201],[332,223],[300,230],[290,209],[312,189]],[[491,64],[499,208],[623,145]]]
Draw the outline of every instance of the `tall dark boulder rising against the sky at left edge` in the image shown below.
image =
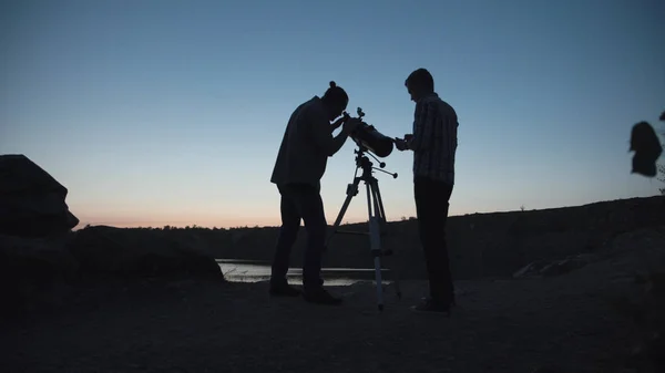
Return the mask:
[[70,231],[79,219],[68,189],[24,155],[0,155],[0,234],[45,237]]

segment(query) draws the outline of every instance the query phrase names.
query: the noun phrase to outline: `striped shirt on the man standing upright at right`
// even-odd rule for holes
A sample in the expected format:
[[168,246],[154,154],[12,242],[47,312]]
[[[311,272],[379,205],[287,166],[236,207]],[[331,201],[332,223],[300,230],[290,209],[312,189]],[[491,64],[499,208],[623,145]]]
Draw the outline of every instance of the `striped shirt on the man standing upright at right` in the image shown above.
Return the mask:
[[454,185],[454,156],[458,145],[454,108],[437,93],[418,100],[413,120],[413,177],[423,176]]

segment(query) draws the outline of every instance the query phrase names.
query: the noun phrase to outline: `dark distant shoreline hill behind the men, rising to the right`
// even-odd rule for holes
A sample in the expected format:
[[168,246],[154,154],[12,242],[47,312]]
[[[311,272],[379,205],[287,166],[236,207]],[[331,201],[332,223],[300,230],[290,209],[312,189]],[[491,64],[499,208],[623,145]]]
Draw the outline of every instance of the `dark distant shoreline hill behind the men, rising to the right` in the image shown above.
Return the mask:
[[[499,211],[453,216],[447,234],[451,270],[458,279],[511,277],[534,261],[562,260],[594,252],[617,234],[665,224],[665,196],[635,197],[541,210]],[[415,219],[388,221],[381,245],[395,252],[381,267],[403,279],[423,279],[426,269]],[[113,227],[115,228],[115,227]],[[244,262],[270,261],[278,227],[209,229],[204,227],[115,228],[126,232],[185,235],[209,256]],[[367,231],[367,222],[344,225],[345,230]],[[78,230],[83,231],[83,230]],[[301,266],[307,245],[300,229],[291,251],[291,267]],[[372,268],[366,236],[336,234],[324,256],[324,267]]]

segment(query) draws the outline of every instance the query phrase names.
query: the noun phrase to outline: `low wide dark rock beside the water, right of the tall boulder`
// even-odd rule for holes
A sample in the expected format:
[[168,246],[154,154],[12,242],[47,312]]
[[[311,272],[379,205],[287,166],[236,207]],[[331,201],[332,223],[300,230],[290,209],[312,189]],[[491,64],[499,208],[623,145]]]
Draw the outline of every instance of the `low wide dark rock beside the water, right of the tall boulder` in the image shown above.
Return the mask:
[[84,278],[223,279],[205,241],[192,235],[94,226],[76,231],[71,250]]

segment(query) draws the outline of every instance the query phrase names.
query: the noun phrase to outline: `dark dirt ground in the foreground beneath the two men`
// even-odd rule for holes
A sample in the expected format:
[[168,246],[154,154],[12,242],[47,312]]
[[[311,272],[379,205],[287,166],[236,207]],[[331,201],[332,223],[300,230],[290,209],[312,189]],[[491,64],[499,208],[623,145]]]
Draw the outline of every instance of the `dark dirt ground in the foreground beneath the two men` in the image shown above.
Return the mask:
[[[450,318],[409,310],[424,282],[330,288],[340,307],[267,283],[91,287],[59,312],[2,325],[4,372],[626,372],[628,321],[582,274],[456,283]],[[106,289],[106,290],[104,290]]]

